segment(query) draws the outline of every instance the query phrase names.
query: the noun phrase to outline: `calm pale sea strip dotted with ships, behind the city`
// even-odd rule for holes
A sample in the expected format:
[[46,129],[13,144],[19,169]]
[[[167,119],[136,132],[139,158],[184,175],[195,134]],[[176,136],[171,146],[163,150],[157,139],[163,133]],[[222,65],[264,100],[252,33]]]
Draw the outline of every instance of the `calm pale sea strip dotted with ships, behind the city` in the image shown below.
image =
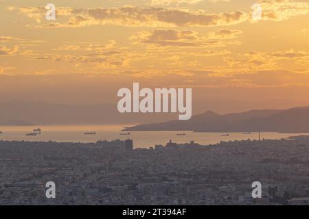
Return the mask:
[[[130,138],[135,148],[149,148],[155,144],[165,145],[168,141],[185,143],[194,140],[199,144],[216,144],[229,140],[258,140],[258,133],[243,134],[229,133],[229,136],[221,136],[225,133],[194,133],[192,131],[130,131],[130,136],[121,136],[121,129],[128,125],[51,125],[40,126],[41,135],[25,136],[38,127],[0,127],[1,140],[28,140],[28,141],[56,141],[56,142],[96,142],[98,140],[126,140]],[[86,131],[95,131],[95,135],[84,135]],[[185,136],[177,136],[177,133],[185,133]],[[275,133],[263,132],[261,138],[281,139],[289,136],[309,135],[309,133]]]

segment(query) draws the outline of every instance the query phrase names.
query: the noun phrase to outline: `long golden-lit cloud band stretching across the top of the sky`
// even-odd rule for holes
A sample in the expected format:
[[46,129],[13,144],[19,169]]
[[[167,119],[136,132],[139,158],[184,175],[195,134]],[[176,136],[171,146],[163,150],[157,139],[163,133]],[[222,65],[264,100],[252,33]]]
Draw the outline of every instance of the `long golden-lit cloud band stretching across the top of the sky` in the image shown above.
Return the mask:
[[[18,8],[19,14],[41,23],[46,10],[43,7]],[[67,16],[65,23],[44,23],[32,27],[84,27],[89,25],[119,25],[126,27],[209,27],[235,25],[246,21],[248,14],[236,11],[219,14],[192,12],[179,9],[138,8],[90,8],[86,10],[57,8],[57,16]]]

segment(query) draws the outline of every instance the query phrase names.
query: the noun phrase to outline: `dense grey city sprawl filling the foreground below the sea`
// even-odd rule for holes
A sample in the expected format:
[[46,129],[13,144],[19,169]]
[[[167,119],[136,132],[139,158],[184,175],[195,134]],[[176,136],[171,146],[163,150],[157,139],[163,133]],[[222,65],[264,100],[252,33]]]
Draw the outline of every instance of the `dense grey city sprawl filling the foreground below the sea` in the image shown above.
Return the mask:
[[[0,141],[1,205],[308,205],[309,136],[200,145]],[[56,184],[56,198],[45,183]],[[262,184],[253,198],[251,184]]]

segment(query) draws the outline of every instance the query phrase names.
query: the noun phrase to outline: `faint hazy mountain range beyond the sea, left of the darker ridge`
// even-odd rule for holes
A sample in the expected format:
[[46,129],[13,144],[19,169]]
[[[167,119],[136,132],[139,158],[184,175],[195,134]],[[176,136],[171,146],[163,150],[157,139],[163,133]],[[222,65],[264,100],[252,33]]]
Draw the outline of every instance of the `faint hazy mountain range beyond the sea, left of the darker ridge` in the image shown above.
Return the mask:
[[[3,125],[13,125],[14,120],[14,125],[136,124],[172,120],[177,116],[178,114],[120,114],[117,103],[62,105],[19,100],[0,103],[0,122]],[[20,123],[16,123],[18,120]]]

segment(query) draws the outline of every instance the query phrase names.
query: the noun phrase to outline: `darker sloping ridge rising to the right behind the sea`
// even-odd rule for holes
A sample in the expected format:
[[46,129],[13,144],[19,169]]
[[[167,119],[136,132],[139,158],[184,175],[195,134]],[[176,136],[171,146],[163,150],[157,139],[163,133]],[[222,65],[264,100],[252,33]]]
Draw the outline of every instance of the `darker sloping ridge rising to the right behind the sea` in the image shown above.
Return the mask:
[[258,131],[259,126],[262,131],[309,132],[309,107],[295,107],[289,110],[252,110],[224,115],[208,111],[192,116],[190,120],[137,125],[124,131],[247,132]]

